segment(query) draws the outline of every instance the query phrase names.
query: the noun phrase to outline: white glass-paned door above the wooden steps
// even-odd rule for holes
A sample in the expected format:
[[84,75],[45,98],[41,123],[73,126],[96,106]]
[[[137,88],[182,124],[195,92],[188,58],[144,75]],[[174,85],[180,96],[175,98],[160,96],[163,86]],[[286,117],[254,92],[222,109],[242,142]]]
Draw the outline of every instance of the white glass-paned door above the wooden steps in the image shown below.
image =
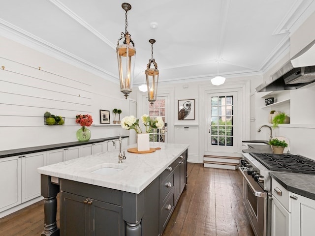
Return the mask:
[[236,92],[208,95],[208,151],[236,152]]

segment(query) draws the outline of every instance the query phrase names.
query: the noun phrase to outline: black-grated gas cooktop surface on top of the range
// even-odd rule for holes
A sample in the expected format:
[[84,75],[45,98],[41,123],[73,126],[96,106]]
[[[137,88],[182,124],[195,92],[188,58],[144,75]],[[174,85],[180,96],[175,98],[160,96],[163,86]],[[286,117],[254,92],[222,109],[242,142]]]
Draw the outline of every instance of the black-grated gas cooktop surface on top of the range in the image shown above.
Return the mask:
[[315,161],[293,154],[250,153],[271,171],[315,174]]

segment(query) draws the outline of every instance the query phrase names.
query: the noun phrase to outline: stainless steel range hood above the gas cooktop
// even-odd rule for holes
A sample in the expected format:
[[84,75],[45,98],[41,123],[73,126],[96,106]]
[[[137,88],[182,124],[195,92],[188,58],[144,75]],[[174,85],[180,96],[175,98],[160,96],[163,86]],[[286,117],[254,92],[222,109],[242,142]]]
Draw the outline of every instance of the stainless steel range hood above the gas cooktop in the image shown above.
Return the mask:
[[299,89],[315,82],[315,40],[288,61],[257,92]]

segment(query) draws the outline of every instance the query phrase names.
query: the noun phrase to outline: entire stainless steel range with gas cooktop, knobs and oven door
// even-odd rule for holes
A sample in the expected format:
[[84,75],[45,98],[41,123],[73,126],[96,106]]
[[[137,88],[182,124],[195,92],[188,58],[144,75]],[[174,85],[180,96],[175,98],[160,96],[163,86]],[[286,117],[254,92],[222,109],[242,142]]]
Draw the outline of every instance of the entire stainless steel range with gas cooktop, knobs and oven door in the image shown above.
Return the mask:
[[243,201],[256,236],[271,236],[270,171],[315,174],[315,161],[300,155],[242,153]]

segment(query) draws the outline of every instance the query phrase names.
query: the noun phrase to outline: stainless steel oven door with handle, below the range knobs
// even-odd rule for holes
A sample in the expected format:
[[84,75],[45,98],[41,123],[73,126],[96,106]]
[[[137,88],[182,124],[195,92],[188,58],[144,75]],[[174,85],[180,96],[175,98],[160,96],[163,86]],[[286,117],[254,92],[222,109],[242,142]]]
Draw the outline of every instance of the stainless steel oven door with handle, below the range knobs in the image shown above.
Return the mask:
[[247,168],[239,167],[243,175],[243,202],[255,236],[267,236],[268,194],[247,174]]

